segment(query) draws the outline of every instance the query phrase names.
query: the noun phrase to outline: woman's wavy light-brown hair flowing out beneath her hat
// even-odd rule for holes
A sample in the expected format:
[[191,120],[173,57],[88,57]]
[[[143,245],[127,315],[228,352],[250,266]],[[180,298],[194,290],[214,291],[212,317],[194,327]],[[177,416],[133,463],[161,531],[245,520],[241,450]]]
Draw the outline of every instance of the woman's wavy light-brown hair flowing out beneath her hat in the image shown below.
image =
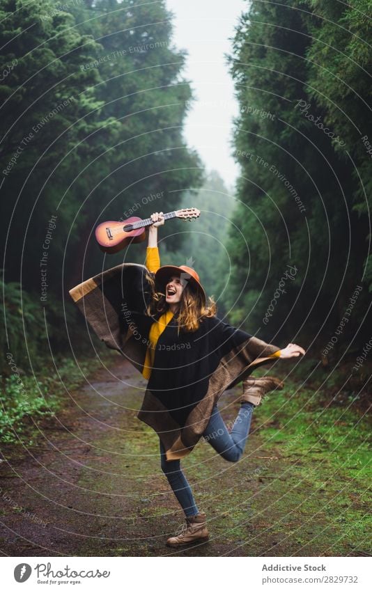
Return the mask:
[[[147,313],[149,316],[164,314],[169,309],[166,303],[165,293],[155,289],[153,276],[148,276],[148,282],[150,283],[152,294],[150,304],[147,307]],[[191,281],[188,281],[183,289],[180,308],[176,314],[178,328],[183,329],[185,332],[197,331],[200,322],[203,322],[203,318],[215,316],[216,314],[217,304],[215,301],[211,297],[208,297],[206,304],[204,304],[201,292],[194,288]]]

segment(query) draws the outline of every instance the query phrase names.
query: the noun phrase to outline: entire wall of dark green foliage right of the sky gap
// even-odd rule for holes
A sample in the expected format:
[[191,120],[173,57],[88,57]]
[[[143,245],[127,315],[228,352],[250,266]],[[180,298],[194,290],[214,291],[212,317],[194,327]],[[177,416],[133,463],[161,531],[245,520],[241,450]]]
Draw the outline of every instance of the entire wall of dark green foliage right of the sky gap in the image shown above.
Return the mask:
[[[239,311],[240,320],[249,314],[247,330],[265,340],[296,335],[305,348],[315,340],[320,349],[319,333],[328,341],[355,287],[363,277],[371,281],[371,260],[364,275],[370,230],[363,189],[371,186],[371,168],[361,141],[372,137],[365,72],[371,28],[362,16],[369,4],[253,1],[235,34],[234,147],[242,175],[233,212],[238,231],[227,245],[227,305],[236,308],[235,322]],[[297,267],[295,280],[286,281],[265,324],[286,265]],[[335,351],[359,331],[368,283]],[[359,345],[367,336],[365,323]]]

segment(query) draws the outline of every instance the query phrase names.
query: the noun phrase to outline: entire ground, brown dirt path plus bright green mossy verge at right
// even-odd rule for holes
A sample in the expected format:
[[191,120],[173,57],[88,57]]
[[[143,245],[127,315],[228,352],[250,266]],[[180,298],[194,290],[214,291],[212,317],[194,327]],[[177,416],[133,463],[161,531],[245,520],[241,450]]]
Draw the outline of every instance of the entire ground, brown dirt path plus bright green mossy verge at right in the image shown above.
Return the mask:
[[[183,460],[210,540],[167,548],[183,514],[160,471],[157,435],[136,417],[145,386],[126,362],[100,370],[40,429],[37,446],[3,452],[4,554],[372,553],[366,414],[352,398],[325,404],[321,390],[290,379],[255,409],[240,462],[205,441]],[[228,423],[239,391],[219,403]]]

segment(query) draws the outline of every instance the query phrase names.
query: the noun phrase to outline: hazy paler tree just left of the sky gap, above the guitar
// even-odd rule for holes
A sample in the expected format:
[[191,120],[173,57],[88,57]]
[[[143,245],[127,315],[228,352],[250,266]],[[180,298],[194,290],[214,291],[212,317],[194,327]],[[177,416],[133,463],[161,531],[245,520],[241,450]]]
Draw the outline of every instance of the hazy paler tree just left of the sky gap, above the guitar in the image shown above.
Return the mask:
[[[83,212],[88,210],[87,219],[93,214],[117,219],[174,210],[184,191],[201,184],[202,175],[201,162],[182,134],[192,93],[182,77],[185,52],[173,45],[171,14],[164,1],[136,6],[99,0],[95,12],[99,19],[92,26],[99,28],[102,49],[97,63],[86,67],[100,73],[96,90],[105,102],[102,113],[121,127],[109,155],[109,178],[100,187],[99,209],[92,210],[90,200]],[[104,209],[102,193],[107,195]],[[155,202],[146,199],[156,194],[162,196]],[[169,249],[176,248],[171,225],[164,234],[170,236]],[[137,247],[130,256],[139,262],[144,251]],[[107,265],[122,260],[120,254]]]

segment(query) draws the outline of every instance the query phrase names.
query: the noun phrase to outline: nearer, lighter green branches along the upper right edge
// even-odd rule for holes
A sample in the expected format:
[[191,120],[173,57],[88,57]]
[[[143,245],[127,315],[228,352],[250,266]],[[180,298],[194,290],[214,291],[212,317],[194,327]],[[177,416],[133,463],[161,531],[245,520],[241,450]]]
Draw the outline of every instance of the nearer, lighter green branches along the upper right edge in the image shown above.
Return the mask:
[[[323,109],[327,125],[345,139],[352,160],[343,154],[340,157],[347,161],[352,175],[353,209],[363,223],[372,206],[371,155],[362,141],[366,138],[372,143],[371,1],[343,4],[313,0],[307,4],[317,15],[309,25],[313,36],[308,52],[309,97]],[[334,148],[340,151],[337,145]],[[370,239],[366,226],[362,228],[362,239]],[[367,264],[366,282],[372,291],[372,256],[362,262]]]

